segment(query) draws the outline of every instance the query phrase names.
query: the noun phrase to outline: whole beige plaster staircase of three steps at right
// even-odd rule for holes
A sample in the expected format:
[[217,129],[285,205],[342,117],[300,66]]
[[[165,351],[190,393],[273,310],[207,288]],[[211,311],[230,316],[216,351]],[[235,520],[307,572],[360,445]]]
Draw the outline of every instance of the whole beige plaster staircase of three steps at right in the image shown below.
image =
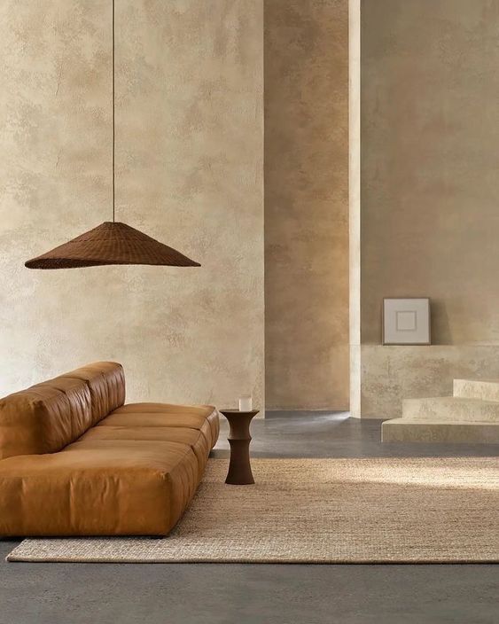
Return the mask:
[[453,396],[406,399],[381,440],[499,444],[499,379],[454,379]]

